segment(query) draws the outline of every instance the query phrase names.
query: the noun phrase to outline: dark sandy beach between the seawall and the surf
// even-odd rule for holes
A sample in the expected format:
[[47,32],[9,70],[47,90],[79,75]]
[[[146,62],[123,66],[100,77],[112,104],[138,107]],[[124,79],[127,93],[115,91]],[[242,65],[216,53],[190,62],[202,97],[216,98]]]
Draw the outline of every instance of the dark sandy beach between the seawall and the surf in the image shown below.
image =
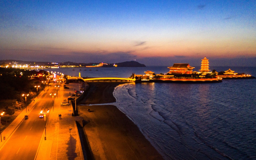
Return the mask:
[[[94,160],[162,160],[139,128],[113,105],[114,87],[123,82],[93,82],[78,105],[91,158]],[[87,110],[90,109],[91,112]]]

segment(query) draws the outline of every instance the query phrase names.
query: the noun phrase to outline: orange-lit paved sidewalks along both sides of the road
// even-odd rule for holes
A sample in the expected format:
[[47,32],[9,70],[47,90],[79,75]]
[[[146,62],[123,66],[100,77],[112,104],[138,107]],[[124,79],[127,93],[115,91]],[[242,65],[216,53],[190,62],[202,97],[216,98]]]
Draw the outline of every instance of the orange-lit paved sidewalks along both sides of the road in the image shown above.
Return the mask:
[[[50,83],[49,88],[51,85],[53,84]],[[76,119],[79,117],[72,116],[72,105],[60,106],[60,102],[64,101],[64,99],[68,101],[67,97],[69,93],[73,94],[75,89],[79,89],[79,85],[79,83],[70,83],[67,85],[69,89],[63,89],[63,85],[60,87],[58,98],[55,98],[54,111],[52,108],[49,108],[50,114],[46,125],[46,140],[45,132],[43,132],[35,160],[84,160],[78,129],[76,127]],[[46,87],[45,91],[40,92],[38,98],[35,98],[35,102],[32,101],[31,104],[28,104],[28,118],[29,112],[40,101],[43,94],[50,94],[47,92],[49,88]],[[61,119],[59,119],[59,114],[62,115]],[[5,147],[5,142],[8,141],[8,138],[12,136],[24,120],[24,115],[26,115],[26,109],[2,132],[0,149]],[[5,140],[3,137],[5,137]]]

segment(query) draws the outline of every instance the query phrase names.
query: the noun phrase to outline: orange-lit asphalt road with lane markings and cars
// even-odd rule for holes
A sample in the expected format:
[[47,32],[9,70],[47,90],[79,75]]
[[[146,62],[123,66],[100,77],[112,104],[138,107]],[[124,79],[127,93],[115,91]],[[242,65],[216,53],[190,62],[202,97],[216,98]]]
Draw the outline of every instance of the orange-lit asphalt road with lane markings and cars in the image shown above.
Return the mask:
[[[28,112],[28,119],[23,120],[12,136],[7,139],[0,150],[0,160],[34,160],[42,137],[45,136],[45,123],[52,112],[52,96],[50,92],[56,92],[55,87],[45,88],[45,92],[33,109]],[[54,97],[55,99],[56,97]],[[33,103],[33,102],[32,102]],[[46,121],[39,118],[41,108],[49,108],[46,113]],[[44,110],[43,110],[44,112]],[[47,135],[47,125],[46,125]]]

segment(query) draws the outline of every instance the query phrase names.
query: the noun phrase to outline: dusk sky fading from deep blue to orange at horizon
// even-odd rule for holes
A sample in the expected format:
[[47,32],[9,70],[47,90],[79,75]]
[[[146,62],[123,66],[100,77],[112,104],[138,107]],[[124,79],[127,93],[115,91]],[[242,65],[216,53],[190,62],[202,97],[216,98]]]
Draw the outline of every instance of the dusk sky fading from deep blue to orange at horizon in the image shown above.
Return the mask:
[[[256,66],[255,0],[0,1],[0,59]],[[200,64],[198,64],[200,65]]]

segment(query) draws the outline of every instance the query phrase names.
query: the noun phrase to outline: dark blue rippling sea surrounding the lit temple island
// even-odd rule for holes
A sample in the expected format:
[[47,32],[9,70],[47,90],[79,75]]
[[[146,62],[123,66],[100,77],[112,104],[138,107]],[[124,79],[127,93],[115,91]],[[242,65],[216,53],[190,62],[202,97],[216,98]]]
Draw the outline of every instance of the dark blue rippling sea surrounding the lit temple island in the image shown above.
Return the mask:
[[[256,67],[210,66],[218,72],[229,68],[256,76]],[[80,72],[82,77],[123,78],[144,71],[168,72],[166,66],[74,69],[45,70],[71,76]],[[133,120],[166,160],[255,160],[255,85],[256,79],[212,84],[124,84],[116,87],[117,102],[113,104]]]

